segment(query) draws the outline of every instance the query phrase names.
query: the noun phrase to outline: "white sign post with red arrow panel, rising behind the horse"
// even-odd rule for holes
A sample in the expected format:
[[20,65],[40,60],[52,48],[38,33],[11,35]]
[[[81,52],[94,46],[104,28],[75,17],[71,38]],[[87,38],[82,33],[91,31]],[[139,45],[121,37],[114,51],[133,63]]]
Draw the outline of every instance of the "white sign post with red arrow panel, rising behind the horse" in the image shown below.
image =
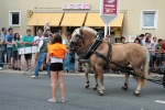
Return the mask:
[[100,15],[105,21],[105,37],[107,35],[108,24],[118,18],[119,1],[120,0],[100,0]]

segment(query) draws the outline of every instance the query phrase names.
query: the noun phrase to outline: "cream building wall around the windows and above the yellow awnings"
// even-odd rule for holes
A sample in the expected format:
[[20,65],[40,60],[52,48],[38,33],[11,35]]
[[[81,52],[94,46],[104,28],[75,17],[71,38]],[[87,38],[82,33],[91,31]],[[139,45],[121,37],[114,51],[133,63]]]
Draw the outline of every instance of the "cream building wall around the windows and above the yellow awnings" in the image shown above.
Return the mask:
[[[92,12],[99,12],[99,0],[6,0],[0,7],[0,28],[9,28],[9,11],[21,11],[21,28],[13,28],[25,34],[30,18],[28,10],[35,12],[61,12],[63,3],[90,3]],[[153,36],[165,38],[165,0],[121,0],[120,10],[125,12],[123,36],[151,32]],[[35,9],[36,8],[36,9]],[[48,9],[50,8],[50,9]],[[141,10],[158,10],[157,30],[140,30]]]

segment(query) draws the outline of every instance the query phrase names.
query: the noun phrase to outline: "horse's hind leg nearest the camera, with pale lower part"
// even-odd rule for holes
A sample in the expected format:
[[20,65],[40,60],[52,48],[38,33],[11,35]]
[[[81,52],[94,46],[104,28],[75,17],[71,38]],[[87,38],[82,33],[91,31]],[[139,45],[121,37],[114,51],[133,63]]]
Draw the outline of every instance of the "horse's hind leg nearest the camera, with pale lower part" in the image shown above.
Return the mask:
[[[142,72],[141,72],[140,68],[136,68],[134,70],[139,76],[143,77]],[[135,96],[139,96],[141,94],[140,91],[141,91],[142,80],[143,80],[142,78],[138,77],[138,85],[136,85],[136,89],[135,89],[135,92],[134,92]]]

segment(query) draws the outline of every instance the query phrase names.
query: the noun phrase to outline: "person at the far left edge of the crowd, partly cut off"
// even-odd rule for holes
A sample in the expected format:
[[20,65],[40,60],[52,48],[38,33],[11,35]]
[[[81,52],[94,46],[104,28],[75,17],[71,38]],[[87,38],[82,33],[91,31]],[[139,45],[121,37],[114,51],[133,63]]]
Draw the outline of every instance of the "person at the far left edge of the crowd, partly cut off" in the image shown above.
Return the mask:
[[2,33],[0,33],[0,70],[3,69],[3,63],[4,63],[6,34],[7,34],[7,30],[2,28]]

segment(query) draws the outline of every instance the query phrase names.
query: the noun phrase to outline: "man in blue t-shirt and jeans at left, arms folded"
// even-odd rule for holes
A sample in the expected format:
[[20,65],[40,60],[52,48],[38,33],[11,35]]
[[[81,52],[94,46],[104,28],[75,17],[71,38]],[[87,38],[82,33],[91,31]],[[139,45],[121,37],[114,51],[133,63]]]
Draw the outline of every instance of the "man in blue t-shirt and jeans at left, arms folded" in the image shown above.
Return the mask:
[[8,55],[8,63],[9,63],[9,68],[11,67],[11,58],[12,58],[12,40],[14,37],[13,29],[9,28],[8,34],[6,35],[6,43],[7,43],[7,55]]

